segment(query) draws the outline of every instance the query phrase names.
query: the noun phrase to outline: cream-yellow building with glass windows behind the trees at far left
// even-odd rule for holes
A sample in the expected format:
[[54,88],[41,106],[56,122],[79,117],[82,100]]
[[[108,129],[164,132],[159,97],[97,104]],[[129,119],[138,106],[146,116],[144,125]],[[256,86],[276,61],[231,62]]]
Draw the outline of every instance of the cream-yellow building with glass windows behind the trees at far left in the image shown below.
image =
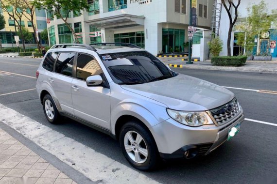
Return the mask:
[[[10,11],[13,11],[13,7],[10,8]],[[4,16],[6,24],[5,28],[0,30],[0,39],[2,43],[2,47],[12,47],[13,44],[16,44],[14,36],[19,35],[19,30],[18,30],[18,25],[17,22],[14,21],[12,17],[9,16],[9,14],[5,11],[3,11],[0,8],[0,13]],[[28,14],[26,14],[28,16]],[[46,14],[44,10],[35,10],[35,16],[34,16],[34,21],[35,21],[35,27],[38,29],[38,32],[40,33],[44,29],[47,28],[46,24]],[[18,20],[19,22],[19,20]],[[34,34],[34,39],[26,42],[26,46],[33,46],[35,45],[35,33],[32,27],[32,23],[23,15],[21,19],[21,26],[24,26],[28,31],[32,32]],[[17,30],[15,30],[17,29]],[[44,44],[44,41],[40,39],[40,43]],[[22,42],[19,42],[19,46],[21,46]]]

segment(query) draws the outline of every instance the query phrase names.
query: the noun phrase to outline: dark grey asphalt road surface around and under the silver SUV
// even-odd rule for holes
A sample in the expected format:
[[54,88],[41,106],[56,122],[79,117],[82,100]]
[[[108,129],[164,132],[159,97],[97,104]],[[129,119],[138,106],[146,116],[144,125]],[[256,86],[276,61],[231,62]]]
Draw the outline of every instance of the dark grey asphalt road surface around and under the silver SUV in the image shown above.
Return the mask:
[[[39,61],[39,59],[0,58],[0,103],[129,167],[117,141],[70,119],[65,119],[62,124],[52,125],[44,116],[35,90],[18,92],[35,88],[35,78],[32,77],[35,77]],[[221,86],[277,91],[277,74],[184,68],[173,70]],[[6,74],[3,71],[14,74]],[[276,94],[229,90],[238,97],[245,118],[277,123]],[[10,92],[18,93],[1,95]],[[156,171],[142,173],[164,184],[266,183],[277,178],[276,132],[277,126],[244,121],[236,137],[208,156],[167,161]]]

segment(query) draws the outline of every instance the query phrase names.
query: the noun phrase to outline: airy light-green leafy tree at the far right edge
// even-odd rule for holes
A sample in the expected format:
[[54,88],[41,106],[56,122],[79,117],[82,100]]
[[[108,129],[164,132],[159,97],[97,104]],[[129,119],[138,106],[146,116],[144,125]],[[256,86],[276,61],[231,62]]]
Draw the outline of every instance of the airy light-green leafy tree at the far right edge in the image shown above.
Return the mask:
[[[272,24],[277,23],[276,12],[272,10],[272,15],[268,15],[267,4],[261,0],[259,4],[253,4],[247,7],[247,17],[238,24],[237,44],[245,47],[246,55],[251,55],[256,45],[255,38],[260,39],[260,35],[267,33]],[[268,52],[268,51],[267,51]],[[266,53],[268,54],[268,53]]]

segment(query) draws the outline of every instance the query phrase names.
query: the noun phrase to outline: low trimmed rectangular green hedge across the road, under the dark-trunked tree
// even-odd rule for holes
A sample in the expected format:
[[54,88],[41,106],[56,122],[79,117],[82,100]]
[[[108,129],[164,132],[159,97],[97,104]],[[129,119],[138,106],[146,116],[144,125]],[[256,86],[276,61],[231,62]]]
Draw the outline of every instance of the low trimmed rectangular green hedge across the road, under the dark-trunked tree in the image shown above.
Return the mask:
[[216,66],[242,66],[247,56],[218,56],[211,58],[211,64]]

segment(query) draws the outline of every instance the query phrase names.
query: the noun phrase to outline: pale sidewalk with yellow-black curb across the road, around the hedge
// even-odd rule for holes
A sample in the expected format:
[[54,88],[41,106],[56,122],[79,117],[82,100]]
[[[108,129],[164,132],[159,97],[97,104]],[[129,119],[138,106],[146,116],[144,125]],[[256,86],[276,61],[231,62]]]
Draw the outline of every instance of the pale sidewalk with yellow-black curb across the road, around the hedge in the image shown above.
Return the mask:
[[197,61],[193,64],[186,64],[181,58],[159,58],[164,63],[176,68],[191,68],[202,70],[227,70],[227,71],[242,71],[242,72],[262,72],[262,73],[277,73],[277,61],[246,61],[245,65],[235,66],[213,66],[209,60]]

